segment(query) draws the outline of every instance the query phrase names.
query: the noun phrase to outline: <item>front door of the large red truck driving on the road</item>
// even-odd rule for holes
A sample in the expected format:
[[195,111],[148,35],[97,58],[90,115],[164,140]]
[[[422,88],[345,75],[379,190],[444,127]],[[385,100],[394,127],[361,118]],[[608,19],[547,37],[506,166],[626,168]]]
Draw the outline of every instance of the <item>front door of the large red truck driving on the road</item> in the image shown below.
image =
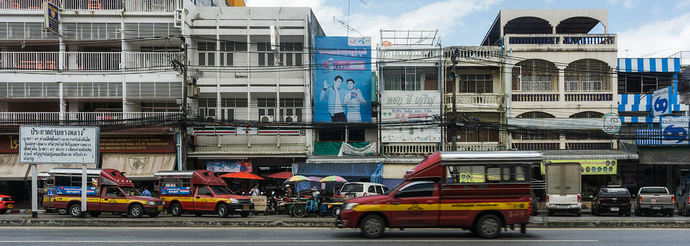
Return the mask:
[[398,189],[390,203],[391,227],[436,226],[439,196],[434,181],[415,181]]

